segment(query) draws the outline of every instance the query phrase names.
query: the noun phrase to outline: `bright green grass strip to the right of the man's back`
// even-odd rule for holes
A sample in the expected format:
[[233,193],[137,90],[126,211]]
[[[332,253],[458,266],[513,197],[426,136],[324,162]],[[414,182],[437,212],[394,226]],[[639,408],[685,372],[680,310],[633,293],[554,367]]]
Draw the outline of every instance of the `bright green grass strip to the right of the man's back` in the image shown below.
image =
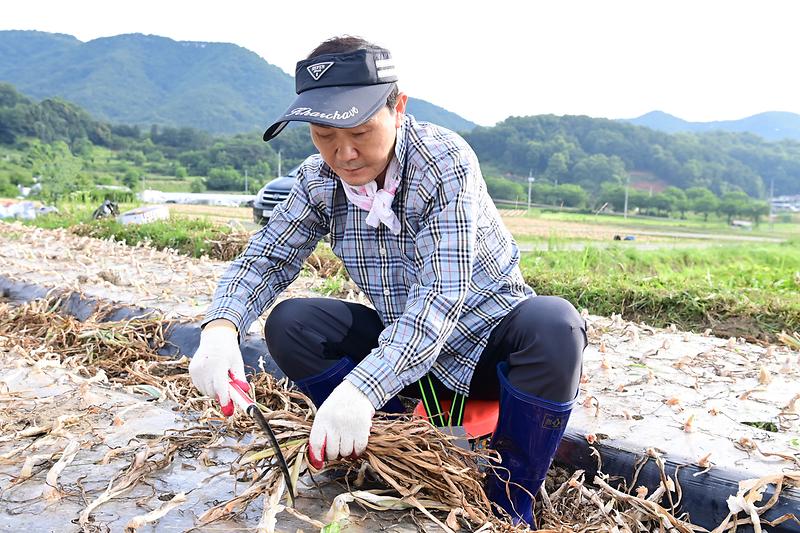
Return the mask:
[[774,339],[800,329],[800,242],[531,252],[521,268],[537,293],[593,314],[725,336]]

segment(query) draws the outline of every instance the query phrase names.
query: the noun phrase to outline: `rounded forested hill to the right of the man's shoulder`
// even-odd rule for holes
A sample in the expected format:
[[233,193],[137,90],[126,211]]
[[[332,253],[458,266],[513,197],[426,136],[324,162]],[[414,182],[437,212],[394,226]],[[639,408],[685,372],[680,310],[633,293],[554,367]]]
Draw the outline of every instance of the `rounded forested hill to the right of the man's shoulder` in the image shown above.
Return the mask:
[[635,179],[717,194],[741,189],[764,198],[800,193],[800,142],[768,142],[750,133],[668,134],[585,116],[511,117],[465,134],[481,163],[501,173],[532,174],[596,191]]

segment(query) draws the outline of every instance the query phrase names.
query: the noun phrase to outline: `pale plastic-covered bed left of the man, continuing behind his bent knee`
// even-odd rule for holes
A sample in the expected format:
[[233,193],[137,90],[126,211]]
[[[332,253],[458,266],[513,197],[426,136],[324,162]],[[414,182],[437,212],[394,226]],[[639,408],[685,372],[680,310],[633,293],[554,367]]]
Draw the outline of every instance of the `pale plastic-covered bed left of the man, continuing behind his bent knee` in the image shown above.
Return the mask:
[[[227,266],[227,262],[195,259],[169,250],[80,237],[64,229],[0,222],[3,276],[156,308],[167,318],[200,318]],[[278,301],[320,296],[323,282],[319,277],[301,274]],[[362,301],[356,291],[345,298]],[[263,331],[263,323],[256,322],[251,330]]]

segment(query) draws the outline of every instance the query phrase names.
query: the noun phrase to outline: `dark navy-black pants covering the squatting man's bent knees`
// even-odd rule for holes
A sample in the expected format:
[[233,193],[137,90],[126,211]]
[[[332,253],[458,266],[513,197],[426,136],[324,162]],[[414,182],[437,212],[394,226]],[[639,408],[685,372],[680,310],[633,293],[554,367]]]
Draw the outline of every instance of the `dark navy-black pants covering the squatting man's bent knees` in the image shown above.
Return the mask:
[[[373,309],[332,298],[279,303],[264,336],[272,358],[291,380],[320,374],[342,357],[355,363],[378,345],[384,325]],[[470,383],[470,398],[497,399],[497,364],[508,361],[514,388],[555,402],[575,397],[586,347],[586,327],[562,298],[534,296],[517,305],[494,328]],[[452,391],[433,378],[440,398]],[[419,397],[413,383],[400,393]]]

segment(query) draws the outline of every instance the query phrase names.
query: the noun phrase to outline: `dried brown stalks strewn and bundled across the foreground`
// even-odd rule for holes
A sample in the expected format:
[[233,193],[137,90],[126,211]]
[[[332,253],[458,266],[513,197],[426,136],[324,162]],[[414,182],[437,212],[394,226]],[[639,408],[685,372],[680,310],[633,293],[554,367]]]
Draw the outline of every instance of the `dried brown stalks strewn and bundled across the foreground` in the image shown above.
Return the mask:
[[[321,266],[321,265],[320,265]],[[200,413],[199,425],[183,430],[173,430],[165,435],[155,436],[142,443],[108,452],[103,462],[118,455],[133,454],[127,470],[112,479],[106,490],[89,503],[80,515],[80,523],[89,526],[92,512],[106,502],[126,494],[149,476],[169,467],[178,451],[184,449],[203,450],[197,457],[203,461],[214,448],[227,446],[221,435],[244,436],[261,435],[253,421],[246,416],[237,415],[225,420],[215,402],[203,397],[194,389],[188,375],[188,361],[165,360],[157,355],[164,344],[165,322],[162,317],[151,316],[124,322],[102,322],[102,310],[85,322],[63,316],[57,311],[61,306],[58,299],[46,299],[20,307],[0,304],[0,335],[13,341],[19,353],[40,370],[47,365],[60,363],[69,369],[75,382],[86,383],[108,380],[125,386],[138,387],[157,401],[170,400],[185,412]],[[54,355],[55,354],[55,355]],[[55,358],[55,359],[54,359]],[[40,365],[41,363],[41,365]],[[104,373],[103,373],[104,372]],[[308,435],[313,423],[315,409],[308,398],[289,383],[276,381],[267,374],[258,374],[253,380],[256,398],[271,421],[281,448],[291,467],[295,479],[309,470],[304,460]],[[4,396],[5,397],[5,396]],[[17,399],[24,403],[23,399]],[[27,400],[25,400],[27,401]],[[40,420],[29,428],[4,426],[3,431],[14,435],[15,439],[38,438],[31,443],[23,443],[16,450],[6,453],[3,461],[10,461],[22,451],[35,452],[38,446],[47,442],[52,444],[51,435],[64,431],[70,422],[69,415],[55,420]],[[220,422],[224,421],[224,424]],[[66,467],[74,458],[73,450],[62,454],[59,463]],[[74,450],[78,453],[78,449]],[[258,438],[249,446],[239,450],[240,457],[231,465],[231,473],[237,479],[252,480],[249,487],[236,497],[209,509],[202,517],[201,524],[207,525],[215,520],[229,518],[242,512],[257,499],[262,499],[264,511],[259,522],[260,531],[271,531],[280,512],[288,512],[318,528],[321,522],[309,518],[294,509],[287,509],[281,503],[285,492],[283,478],[274,466],[273,453],[266,440]],[[35,456],[33,453],[31,456]],[[41,457],[52,457],[42,455]],[[359,472],[359,479],[369,471],[389,488],[385,491],[351,492],[352,500],[373,510],[398,509],[404,506],[413,508],[443,531],[455,531],[458,527],[468,527],[473,531],[522,531],[524,528],[512,526],[499,520],[493,512],[492,504],[483,490],[482,469],[479,465],[495,464],[497,455],[492,452],[471,452],[454,446],[451,437],[431,427],[426,422],[407,417],[376,417],[369,446],[365,454],[355,461],[332,461],[326,470]],[[62,463],[63,461],[63,463]],[[58,464],[56,466],[58,466]],[[23,473],[30,475],[36,459],[26,462]],[[542,502],[537,502],[535,516],[541,531],[569,530],[580,533],[595,531],[638,532],[645,530],[676,531],[689,533],[701,528],[676,516],[681,489],[674,478],[663,470],[663,461],[656,458],[661,472],[661,485],[650,497],[628,494],[614,488],[598,475],[594,485],[584,482],[583,473],[576,472],[561,486],[556,487]],[[641,465],[639,465],[641,468]],[[51,485],[56,486],[61,470],[51,469]],[[761,514],[771,508],[785,482],[797,484],[800,475],[785,474],[780,479],[759,480],[761,483],[748,485],[740,491],[740,506],[747,512],[754,528]],[[776,484],[776,493],[763,506],[757,507],[760,495],[767,483]],[[633,484],[635,486],[635,483]],[[631,490],[633,490],[633,486]],[[675,492],[673,498],[672,492]],[[367,496],[367,495],[370,496]],[[662,507],[663,496],[669,499],[669,508]],[[173,505],[170,505],[173,504]],[[137,517],[131,521],[129,530],[157,520],[170,509],[180,505],[177,497],[162,505],[158,510]],[[439,513],[447,513],[446,515]],[[716,531],[731,531],[736,524],[743,523],[731,512],[726,521]],[[443,518],[446,516],[446,520]],[[794,515],[781,517],[773,523],[797,520]]]

